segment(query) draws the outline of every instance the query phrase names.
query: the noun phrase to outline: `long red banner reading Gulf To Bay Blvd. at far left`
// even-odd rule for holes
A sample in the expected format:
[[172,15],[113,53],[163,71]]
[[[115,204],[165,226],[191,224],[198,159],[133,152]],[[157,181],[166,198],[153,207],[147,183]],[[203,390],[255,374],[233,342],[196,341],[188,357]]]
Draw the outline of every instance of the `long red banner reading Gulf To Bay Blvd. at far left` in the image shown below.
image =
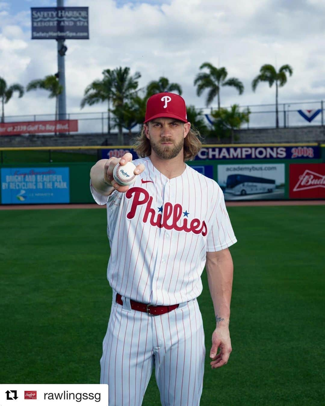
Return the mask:
[[0,123],[0,135],[64,133],[78,131],[78,120],[24,121]]

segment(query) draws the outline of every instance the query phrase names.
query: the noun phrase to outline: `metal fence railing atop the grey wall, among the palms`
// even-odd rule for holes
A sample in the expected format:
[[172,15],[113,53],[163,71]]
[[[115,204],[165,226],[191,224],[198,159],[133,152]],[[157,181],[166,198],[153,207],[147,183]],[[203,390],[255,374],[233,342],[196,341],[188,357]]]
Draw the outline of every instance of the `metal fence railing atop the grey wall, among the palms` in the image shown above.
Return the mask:
[[[225,108],[229,108],[225,107]],[[249,108],[249,123],[243,125],[244,128],[275,128],[275,104],[253,104],[240,106],[241,110]],[[212,110],[217,110],[217,106],[197,108],[202,114],[210,114]],[[320,110],[319,114],[311,121],[301,117],[298,110]],[[324,125],[323,100],[309,102],[288,102],[278,104],[279,127],[299,127]],[[21,114],[6,116],[6,123],[22,121],[52,121],[54,114]],[[67,114],[68,120],[78,120],[78,133],[80,134],[108,134],[108,112],[73,112]],[[113,123],[111,114],[111,133],[117,133],[117,126]],[[208,120],[207,120],[208,123]],[[132,128],[132,132],[141,129],[141,125]],[[124,132],[128,130],[124,129]]]

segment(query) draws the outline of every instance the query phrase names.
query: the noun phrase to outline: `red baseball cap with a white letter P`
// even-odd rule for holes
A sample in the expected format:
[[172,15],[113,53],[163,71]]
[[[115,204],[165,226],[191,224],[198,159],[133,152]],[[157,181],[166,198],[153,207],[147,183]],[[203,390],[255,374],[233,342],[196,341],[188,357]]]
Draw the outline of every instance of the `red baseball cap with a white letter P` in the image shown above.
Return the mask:
[[186,104],[183,97],[169,92],[157,93],[149,97],[144,122],[147,123],[158,117],[170,117],[187,123]]

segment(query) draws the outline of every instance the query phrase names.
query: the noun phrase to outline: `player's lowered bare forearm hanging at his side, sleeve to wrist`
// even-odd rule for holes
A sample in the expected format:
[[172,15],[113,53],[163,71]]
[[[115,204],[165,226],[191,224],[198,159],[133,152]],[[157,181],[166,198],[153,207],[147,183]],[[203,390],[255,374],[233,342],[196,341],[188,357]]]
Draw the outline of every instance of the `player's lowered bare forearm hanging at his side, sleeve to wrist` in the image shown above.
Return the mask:
[[233,270],[232,257],[228,249],[218,253],[207,253],[206,272],[217,327],[229,325]]

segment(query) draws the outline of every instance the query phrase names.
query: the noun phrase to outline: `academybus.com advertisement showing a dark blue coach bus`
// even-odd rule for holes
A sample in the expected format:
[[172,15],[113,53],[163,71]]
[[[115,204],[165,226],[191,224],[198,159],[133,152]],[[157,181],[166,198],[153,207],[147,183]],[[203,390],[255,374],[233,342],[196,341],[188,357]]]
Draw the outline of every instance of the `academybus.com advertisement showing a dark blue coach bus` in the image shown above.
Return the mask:
[[225,200],[284,199],[284,164],[218,165]]

